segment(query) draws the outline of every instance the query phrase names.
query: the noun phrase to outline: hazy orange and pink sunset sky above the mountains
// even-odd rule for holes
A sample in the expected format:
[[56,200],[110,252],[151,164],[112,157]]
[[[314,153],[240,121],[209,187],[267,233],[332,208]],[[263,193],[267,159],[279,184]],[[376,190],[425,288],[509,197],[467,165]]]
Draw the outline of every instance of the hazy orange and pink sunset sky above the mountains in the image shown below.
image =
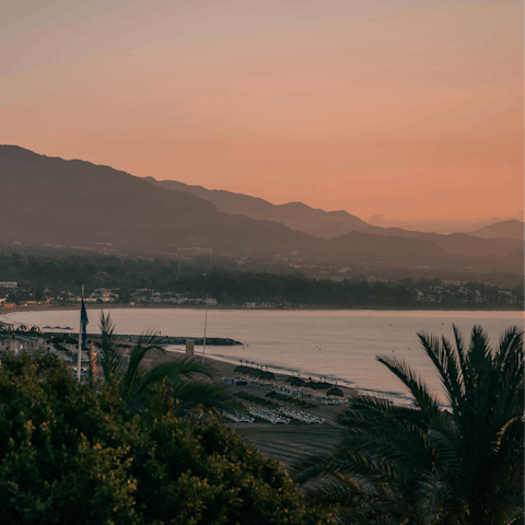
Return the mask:
[[524,207],[523,2],[32,0],[0,143],[361,218]]

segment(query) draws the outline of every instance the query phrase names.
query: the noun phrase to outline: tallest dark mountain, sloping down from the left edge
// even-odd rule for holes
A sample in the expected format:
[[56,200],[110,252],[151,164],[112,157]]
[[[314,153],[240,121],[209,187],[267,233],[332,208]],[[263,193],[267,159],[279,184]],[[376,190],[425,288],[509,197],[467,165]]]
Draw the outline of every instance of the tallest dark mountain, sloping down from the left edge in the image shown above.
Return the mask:
[[133,252],[211,247],[269,255],[320,240],[282,224],[221,213],[211,202],[108,166],[0,147],[0,240],[96,246]]

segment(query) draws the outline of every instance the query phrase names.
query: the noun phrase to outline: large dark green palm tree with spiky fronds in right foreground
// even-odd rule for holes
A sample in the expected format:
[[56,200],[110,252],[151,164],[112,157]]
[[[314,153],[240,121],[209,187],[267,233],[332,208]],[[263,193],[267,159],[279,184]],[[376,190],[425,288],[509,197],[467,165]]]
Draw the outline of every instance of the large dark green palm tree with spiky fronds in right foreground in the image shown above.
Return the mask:
[[445,404],[404,361],[378,357],[411,404],[357,396],[337,418],[345,430],[334,451],[294,466],[307,497],[340,523],[525,524],[523,330],[491,348],[481,327],[468,345],[453,328],[455,348],[418,334]]

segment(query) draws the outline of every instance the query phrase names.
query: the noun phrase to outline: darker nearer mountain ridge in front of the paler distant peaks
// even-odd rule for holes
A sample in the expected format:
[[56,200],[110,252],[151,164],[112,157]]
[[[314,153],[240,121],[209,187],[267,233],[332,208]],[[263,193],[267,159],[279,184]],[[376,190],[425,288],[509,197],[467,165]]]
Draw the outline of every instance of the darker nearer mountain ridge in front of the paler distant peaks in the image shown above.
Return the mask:
[[[428,238],[354,232],[327,241],[276,221],[223,213],[188,191],[168,190],[110,166],[38,155],[20,147],[0,145],[0,240],[4,241],[91,247],[106,243],[130,253],[156,254],[207,247],[225,255],[277,255],[341,265],[518,266],[515,258],[506,260],[501,254],[490,260],[451,254]],[[505,245],[505,253],[512,247]]]

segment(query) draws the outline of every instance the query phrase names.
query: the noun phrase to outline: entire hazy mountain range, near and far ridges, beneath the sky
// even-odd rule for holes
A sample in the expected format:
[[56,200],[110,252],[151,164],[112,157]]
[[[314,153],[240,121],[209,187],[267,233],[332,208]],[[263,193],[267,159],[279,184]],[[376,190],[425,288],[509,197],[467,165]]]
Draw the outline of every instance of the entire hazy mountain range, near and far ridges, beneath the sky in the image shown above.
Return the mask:
[[[276,206],[250,196],[48,158],[15,145],[0,145],[0,187],[3,241],[110,244],[132,253],[210,247],[225,255],[293,254],[337,264],[523,271],[518,221],[521,238],[512,237],[517,231],[513,221],[470,235],[383,229],[346,211],[326,212],[301,202]],[[491,234],[497,237],[486,238]]]

